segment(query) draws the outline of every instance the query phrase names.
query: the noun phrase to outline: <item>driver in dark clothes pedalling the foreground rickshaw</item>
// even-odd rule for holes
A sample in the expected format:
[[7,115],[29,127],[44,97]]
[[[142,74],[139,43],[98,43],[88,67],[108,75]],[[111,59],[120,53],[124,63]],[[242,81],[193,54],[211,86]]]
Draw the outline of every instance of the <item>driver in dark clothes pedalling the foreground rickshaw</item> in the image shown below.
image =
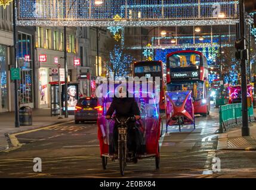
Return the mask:
[[[137,102],[135,101],[134,97],[128,97],[128,91],[123,91],[123,88],[119,88],[119,97],[114,97],[112,100],[112,103],[107,110],[106,113],[106,119],[110,119],[113,113],[116,111],[115,116],[116,118],[129,118],[134,117],[135,119],[140,119],[140,109],[137,105]],[[138,137],[134,132],[135,128],[135,121],[129,121],[128,124],[128,149],[133,150],[134,157],[137,151],[137,145],[138,145]],[[135,138],[135,139],[134,139]],[[115,123],[114,131],[113,131],[113,140],[114,140],[114,148],[115,153],[118,151],[118,124]],[[131,145],[136,142],[136,145]],[[137,160],[135,159],[134,162]]]

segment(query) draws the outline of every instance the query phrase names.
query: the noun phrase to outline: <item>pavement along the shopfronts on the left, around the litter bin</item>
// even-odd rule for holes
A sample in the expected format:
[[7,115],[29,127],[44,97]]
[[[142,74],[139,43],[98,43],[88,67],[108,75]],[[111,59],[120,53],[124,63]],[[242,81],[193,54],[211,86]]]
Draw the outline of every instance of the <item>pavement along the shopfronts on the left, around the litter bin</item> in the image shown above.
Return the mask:
[[20,126],[15,128],[14,125],[14,112],[0,113],[0,150],[4,150],[11,147],[11,143],[8,143],[8,134],[14,134],[18,132],[28,131],[32,129],[38,129],[45,126],[61,124],[73,120],[73,116],[69,118],[58,119],[58,116],[51,117],[51,109],[33,109],[32,110],[32,124],[31,126]]

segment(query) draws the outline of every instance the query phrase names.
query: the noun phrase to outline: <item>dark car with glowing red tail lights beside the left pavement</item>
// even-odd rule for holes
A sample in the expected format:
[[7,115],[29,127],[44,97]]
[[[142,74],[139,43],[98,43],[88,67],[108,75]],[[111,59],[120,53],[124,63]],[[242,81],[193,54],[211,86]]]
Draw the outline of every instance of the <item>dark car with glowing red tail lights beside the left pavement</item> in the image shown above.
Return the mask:
[[84,121],[97,121],[98,111],[102,110],[102,107],[98,106],[97,98],[82,97],[75,107],[75,124]]

